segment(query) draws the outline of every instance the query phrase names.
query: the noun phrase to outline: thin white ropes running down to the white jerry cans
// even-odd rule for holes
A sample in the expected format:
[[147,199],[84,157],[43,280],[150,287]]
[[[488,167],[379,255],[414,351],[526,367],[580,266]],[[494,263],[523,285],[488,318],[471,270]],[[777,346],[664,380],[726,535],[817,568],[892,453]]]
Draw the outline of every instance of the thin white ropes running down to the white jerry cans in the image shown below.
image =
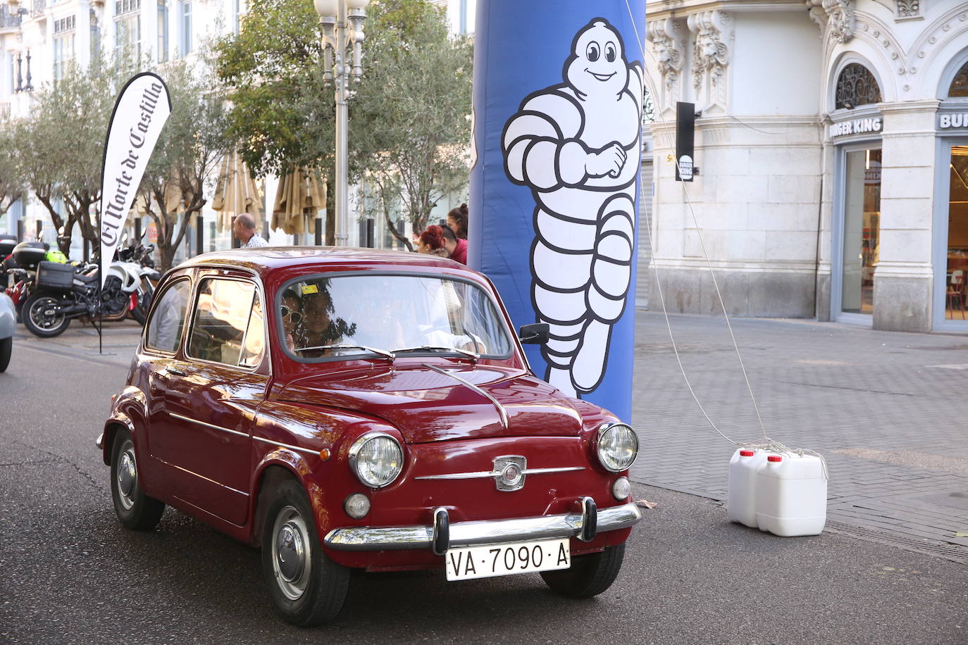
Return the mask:
[[[635,16],[632,15],[632,8],[629,6],[628,0],[625,0],[625,9],[628,11],[628,17],[629,17],[629,19],[631,21],[632,29],[633,29],[633,31],[635,31],[635,41],[636,41],[636,44],[639,47],[639,52],[642,54],[642,59],[643,59],[643,62],[644,62],[645,59],[646,59],[646,56],[648,54],[646,53],[645,45],[642,42],[642,37],[639,34],[639,29],[638,29],[638,27],[635,24]],[[652,58],[654,58],[654,56],[652,56]],[[658,93],[655,91],[655,85],[651,82],[651,78],[649,77],[649,75],[647,73],[645,73],[645,70],[644,69],[643,69],[642,72],[643,72],[643,74],[642,74],[643,81],[649,84],[650,94],[652,95],[652,97],[656,97],[657,98],[658,97]],[[641,99],[640,99],[640,103],[641,103]],[[666,123],[666,120],[665,120],[665,116],[663,115],[663,110],[661,108],[656,111],[656,116],[658,117],[659,122],[662,124],[662,126],[664,126],[664,127],[667,127],[668,126],[668,124]],[[740,120],[737,119],[737,121],[740,121]],[[742,122],[740,122],[740,123],[742,123]],[[751,126],[747,126],[746,124],[742,124],[742,125],[743,126],[746,126],[747,128],[753,129]],[[755,129],[753,129],[753,130],[755,130]],[[677,168],[677,170],[679,171],[679,173],[681,175],[682,173],[681,173],[681,167],[679,165],[679,159],[675,159],[674,162],[676,163],[676,168]],[[722,430],[720,430],[712,422],[712,420],[710,419],[710,415],[707,414],[707,412],[706,412],[706,408],[703,407],[703,404],[700,402],[699,397],[696,396],[695,391],[692,389],[692,384],[689,382],[689,377],[685,373],[685,368],[682,366],[682,360],[681,360],[681,357],[680,357],[680,354],[679,354],[679,347],[677,347],[677,345],[676,345],[676,337],[673,335],[673,332],[672,332],[672,324],[669,321],[669,311],[666,308],[665,293],[664,293],[664,290],[662,288],[662,280],[659,279],[659,268],[655,264],[655,256],[653,254],[653,255],[650,256],[650,267],[655,271],[655,284],[658,287],[659,302],[662,304],[662,314],[665,317],[666,329],[669,332],[669,339],[672,341],[673,352],[676,354],[676,362],[679,364],[679,369],[680,369],[680,371],[682,373],[682,379],[685,381],[685,386],[686,386],[686,388],[688,388],[689,394],[692,396],[693,400],[696,401],[696,405],[699,406],[699,411],[703,413],[703,416],[706,418],[706,421],[711,425],[712,429],[715,430],[719,434],[719,436],[721,436],[726,441],[728,441],[728,442],[730,442],[730,443],[732,443],[732,444],[734,444],[736,446],[740,446],[741,448],[748,448],[750,450],[765,450],[765,451],[769,451],[771,453],[778,453],[778,454],[797,454],[797,455],[800,455],[800,456],[802,456],[803,454],[813,454],[813,455],[815,455],[815,456],[817,456],[817,457],[820,458],[821,464],[823,465],[824,478],[827,479],[827,476],[828,476],[828,472],[827,472],[827,460],[824,459],[824,457],[821,454],[815,453],[814,451],[811,451],[811,450],[802,449],[802,448],[801,449],[793,449],[793,450],[791,450],[791,449],[787,448],[785,445],[783,445],[782,443],[780,443],[779,441],[776,441],[774,439],[771,439],[769,436],[767,436],[767,430],[766,430],[766,427],[763,425],[763,418],[760,415],[760,407],[756,403],[756,396],[753,394],[753,388],[752,388],[752,386],[749,383],[749,375],[746,373],[746,366],[742,362],[742,356],[741,356],[741,353],[740,353],[740,345],[739,345],[739,343],[737,343],[736,335],[733,333],[733,325],[730,324],[729,314],[726,312],[726,304],[723,302],[722,293],[719,290],[719,282],[718,282],[718,280],[716,280],[716,273],[715,273],[715,271],[712,268],[712,262],[710,260],[710,254],[709,254],[709,252],[706,249],[706,242],[703,239],[702,228],[699,225],[699,220],[696,218],[695,210],[692,207],[692,200],[689,198],[689,191],[687,190],[687,187],[686,187],[686,185],[685,185],[684,182],[682,183],[682,195],[683,195],[683,198],[685,200],[686,206],[689,209],[689,215],[692,217],[692,221],[693,221],[693,223],[696,226],[696,235],[699,238],[700,247],[703,249],[703,258],[706,260],[706,264],[707,264],[707,266],[709,267],[709,270],[710,270],[710,276],[712,278],[712,285],[715,287],[715,290],[716,290],[716,298],[719,300],[719,307],[722,308],[722,310],[723,310],[723,318],[726,320],[726,327],[729,330],[730,338],[733,340],[733,348],[736,350],[736,356],[737,356],[737,359],[740,362],[740,368],[741,368],[741,371],[742,371],[742,378],[743,378],[743,380],[746,383],[746,391],[749,393],[749,398],[750,398],[750,400],[753,403],[753,410],[756,412],[756,420],[757,420],[757,422],[760,425],[760,430],[763,432],[763,439],[762,440],[757,440],[755,442],[743,443],[743,442],[736,441],[736,440],[731,439],[730,437],[726,436],[722,432]],[[641,198],[641,195],[640,195],[640,198]],[[655,248],[655,244],[654,244],[655,239],[654,239],[654,234],[653,234],[653,230],[652,230],[652,223],[651,222],[648,222],[648,223],[649,223],[648,229],[649,229],[649,243],[650,243],[650,248],[651,249],[654,249]]]

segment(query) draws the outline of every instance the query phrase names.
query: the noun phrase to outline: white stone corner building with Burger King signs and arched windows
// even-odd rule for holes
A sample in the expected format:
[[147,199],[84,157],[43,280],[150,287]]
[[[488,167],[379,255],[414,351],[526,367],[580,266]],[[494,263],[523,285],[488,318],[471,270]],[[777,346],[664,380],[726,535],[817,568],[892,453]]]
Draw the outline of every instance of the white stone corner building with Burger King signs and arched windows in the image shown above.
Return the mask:
[[[664,0],[650,306],[968,332],[968,3]],[[676,103],[695,103],[691,183]],[[643,238],[646,229],[642,229]]]

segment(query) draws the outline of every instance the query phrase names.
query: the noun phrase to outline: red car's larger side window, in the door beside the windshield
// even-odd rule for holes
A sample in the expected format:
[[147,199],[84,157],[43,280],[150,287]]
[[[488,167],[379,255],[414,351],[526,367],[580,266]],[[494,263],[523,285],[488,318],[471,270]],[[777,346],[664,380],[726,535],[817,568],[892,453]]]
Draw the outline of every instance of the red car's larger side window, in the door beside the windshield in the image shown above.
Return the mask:
[[230,366],[257,366],[265,344],[261,312],[253,282],[201,280],[189,336],[189,356]]

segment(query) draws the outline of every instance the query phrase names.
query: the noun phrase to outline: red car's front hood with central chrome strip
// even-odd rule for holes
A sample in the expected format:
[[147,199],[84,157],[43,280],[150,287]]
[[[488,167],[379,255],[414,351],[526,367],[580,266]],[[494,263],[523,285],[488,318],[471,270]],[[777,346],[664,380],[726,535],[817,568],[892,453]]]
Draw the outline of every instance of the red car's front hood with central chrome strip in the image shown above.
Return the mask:
[[[581,432],[582,418],[572,399],[528,372],[497,366],[437,367],[447,373],[427,365],[328,372],[288,383],[277,398],[379,417],[399,428],[408,443]],[[499,403],[506,427],[498,405],[458,378]]]

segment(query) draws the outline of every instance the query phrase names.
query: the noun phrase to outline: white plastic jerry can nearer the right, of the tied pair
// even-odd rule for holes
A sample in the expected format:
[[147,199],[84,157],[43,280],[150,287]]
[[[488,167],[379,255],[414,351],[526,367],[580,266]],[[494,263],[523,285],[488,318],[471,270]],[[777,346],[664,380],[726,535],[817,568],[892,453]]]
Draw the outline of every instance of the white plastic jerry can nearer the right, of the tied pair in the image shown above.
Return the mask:
[[770,454],[756,469],[756,523],[785,538],[820,535],[827,522],[824,464],[812,454]]

